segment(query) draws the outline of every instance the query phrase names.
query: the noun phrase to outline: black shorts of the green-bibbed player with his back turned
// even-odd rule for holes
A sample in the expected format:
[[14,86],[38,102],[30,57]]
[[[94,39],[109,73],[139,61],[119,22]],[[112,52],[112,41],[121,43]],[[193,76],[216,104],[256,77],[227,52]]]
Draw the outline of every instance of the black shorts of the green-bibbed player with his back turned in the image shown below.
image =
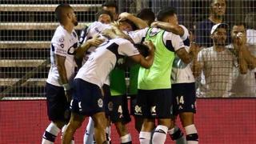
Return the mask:
[[142,118],[171,118],[172,90],[138,90],[134,114]]

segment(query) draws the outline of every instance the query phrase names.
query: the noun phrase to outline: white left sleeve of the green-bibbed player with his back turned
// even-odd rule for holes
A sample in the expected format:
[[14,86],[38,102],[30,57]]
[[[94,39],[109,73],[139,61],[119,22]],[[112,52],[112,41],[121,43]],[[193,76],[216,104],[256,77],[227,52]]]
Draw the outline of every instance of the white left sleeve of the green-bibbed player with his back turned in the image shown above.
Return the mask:
[[131,31],[128,34],[129,34],[130,38],[134,41],[134,43],[141,43],[143,41],[143,39],[146,38],[147,30],[149,30],[149,28]]

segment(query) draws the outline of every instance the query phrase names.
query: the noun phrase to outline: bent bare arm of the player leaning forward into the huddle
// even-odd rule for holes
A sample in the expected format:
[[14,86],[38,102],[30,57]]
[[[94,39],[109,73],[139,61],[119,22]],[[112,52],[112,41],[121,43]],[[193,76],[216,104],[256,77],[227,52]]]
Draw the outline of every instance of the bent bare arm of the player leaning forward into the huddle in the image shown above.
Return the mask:
[[149,47],[149,55],[144,58],[142,54],[134,55],[129,58],[131,58],[134,62],[139,63],[142,67],[149,69],[150,66],[153,65],[154,62],[154,44],[150,41],[143,42],[144,45]]

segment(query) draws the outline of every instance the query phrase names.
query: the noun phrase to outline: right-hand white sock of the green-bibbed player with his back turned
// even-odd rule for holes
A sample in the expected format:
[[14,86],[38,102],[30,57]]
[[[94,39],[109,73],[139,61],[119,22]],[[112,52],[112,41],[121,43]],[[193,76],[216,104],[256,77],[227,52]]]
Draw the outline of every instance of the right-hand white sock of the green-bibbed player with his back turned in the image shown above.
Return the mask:
[[166,142],[167,126],[158,125],[153,134],[152,144],[164,144]]

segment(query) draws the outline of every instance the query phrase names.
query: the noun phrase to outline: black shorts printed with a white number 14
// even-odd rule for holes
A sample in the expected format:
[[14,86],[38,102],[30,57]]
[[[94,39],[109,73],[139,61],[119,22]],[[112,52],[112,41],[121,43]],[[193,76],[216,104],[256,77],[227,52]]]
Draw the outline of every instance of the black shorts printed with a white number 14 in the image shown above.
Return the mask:
[[172,85],[174,94],[174,114],[196,112],[195,83],[177,83]]

